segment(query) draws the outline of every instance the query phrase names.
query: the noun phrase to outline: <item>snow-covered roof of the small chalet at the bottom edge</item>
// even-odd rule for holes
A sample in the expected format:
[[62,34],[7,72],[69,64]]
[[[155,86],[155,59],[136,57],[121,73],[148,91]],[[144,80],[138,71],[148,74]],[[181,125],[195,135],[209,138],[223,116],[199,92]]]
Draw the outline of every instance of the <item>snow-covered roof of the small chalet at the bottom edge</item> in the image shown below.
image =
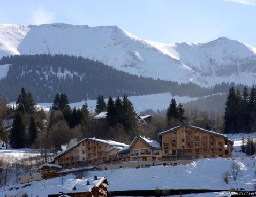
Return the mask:
[[[58,191],[63,194],[91,192],[94,187],[99,187],[104,180],[106,180],[105,177],[97,177],[97,180],[93,177],[87,179],[67,179],[65,183],[58,188]],[[89,185],[87,185],[88,181],[90,183]],[[76,190],[73,190],[74,186],[76,186]]]

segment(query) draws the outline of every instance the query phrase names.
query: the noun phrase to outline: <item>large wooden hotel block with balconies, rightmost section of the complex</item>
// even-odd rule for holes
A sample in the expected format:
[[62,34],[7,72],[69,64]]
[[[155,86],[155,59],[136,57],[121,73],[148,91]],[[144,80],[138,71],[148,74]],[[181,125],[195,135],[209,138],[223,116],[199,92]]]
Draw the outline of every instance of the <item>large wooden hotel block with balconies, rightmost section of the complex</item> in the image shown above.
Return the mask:
[[158,134],[162,160],[231,157],[233,142],[226,135],[195,126],[177,126]]

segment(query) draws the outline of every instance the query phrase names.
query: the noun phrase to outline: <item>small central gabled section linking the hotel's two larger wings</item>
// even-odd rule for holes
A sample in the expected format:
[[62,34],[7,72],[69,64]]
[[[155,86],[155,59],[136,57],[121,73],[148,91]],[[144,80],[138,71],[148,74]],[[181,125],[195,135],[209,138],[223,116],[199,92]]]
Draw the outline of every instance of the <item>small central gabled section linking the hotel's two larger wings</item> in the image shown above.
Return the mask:
[[137,135],[130,146],[122,148],[117,152],[117,156],[121,161],[127,158],[131,161],[161,160],[161,145],[156,140],[148,140],[147,138]]

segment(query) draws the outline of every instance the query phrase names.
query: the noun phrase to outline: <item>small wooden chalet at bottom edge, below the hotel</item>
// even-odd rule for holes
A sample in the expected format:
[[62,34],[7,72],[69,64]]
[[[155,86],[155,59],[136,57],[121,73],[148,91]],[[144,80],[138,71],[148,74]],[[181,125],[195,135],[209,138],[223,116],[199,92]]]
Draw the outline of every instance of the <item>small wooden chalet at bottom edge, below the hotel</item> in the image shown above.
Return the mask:
[[59,194],[48,194],[48,197],[107,197],[107,185],[104,177],[69,179],[65,184],[56,186]]

